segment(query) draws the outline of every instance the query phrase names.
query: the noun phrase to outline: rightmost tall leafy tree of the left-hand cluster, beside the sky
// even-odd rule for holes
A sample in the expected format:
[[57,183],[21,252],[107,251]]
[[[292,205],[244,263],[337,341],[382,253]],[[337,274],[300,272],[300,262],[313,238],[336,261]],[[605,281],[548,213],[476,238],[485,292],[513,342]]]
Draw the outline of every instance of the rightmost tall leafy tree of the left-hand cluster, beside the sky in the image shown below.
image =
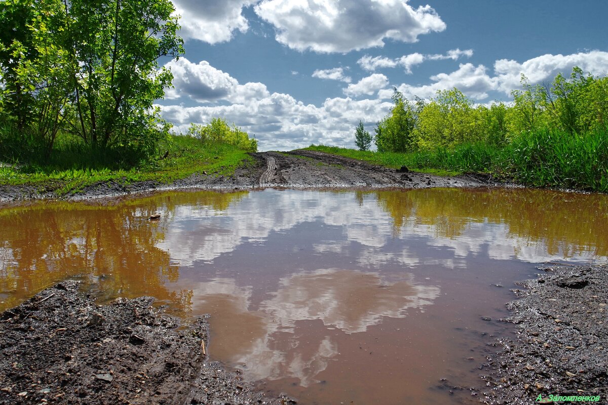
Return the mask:
[[173,75],[157,60],[179,58],[183,40],[169,0],[63,0],[74,43],[76,118],[71,131],[94,148],[151,148],[161,122],[153,101]]

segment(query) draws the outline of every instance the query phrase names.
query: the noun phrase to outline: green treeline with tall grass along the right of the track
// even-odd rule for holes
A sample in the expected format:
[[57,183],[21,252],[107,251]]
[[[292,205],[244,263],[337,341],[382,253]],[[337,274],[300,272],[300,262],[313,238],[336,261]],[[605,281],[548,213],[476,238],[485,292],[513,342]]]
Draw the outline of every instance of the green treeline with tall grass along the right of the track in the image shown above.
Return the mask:
[[[460,90],[429,102],[395,89],[390,113],[376,124],[378,152],[410,152],[418,168],[485,171],[536,186],[608,191],[608,77],[575,67],[546,85],[522,75],[509,104],[475,106]],[[356,144],[371,145],[359,124]],[[362,141],[362,140],[365,140]]]

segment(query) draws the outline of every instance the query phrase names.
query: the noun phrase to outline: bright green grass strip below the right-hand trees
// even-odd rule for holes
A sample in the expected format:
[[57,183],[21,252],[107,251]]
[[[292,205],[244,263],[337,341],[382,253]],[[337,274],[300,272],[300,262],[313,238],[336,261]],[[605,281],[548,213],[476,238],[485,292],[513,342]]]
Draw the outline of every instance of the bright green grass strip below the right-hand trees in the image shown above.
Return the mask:
[[454,175],[484,172],[535,187],[608,192],[608,130],[571,135],[522,132],[502,147],[463,144],[409,153],[356,151],[311,145],[308,149],[365,160],[390,168]]

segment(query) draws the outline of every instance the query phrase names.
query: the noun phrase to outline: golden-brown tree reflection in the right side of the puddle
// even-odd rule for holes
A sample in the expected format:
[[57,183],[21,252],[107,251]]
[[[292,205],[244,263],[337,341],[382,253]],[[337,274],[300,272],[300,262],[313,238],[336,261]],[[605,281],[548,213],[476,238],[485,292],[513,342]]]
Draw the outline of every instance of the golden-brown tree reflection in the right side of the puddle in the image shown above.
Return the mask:
[[472,222],[505,223],[523,240],[543,240],[550,254],[595,251],[608,256],[608,196],[534,189],[416,189],[375,191],[396,228],[433,225],[456,237]]

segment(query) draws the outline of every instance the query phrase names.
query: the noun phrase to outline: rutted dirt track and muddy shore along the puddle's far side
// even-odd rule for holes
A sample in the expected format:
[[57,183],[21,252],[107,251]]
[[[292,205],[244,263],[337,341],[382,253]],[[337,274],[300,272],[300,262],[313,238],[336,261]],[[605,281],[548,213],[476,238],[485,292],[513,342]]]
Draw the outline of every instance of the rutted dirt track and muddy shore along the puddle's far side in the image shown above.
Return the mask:
[[[89,186],[63,199],[121,196],[161,189],[254,189],[285,188],[428,188],[493,185],[481,176],[440,177],[371,165],[351,158],[316,151],[259,152],[254,160],[230,177],[195,174],[171,184],[105,182]],[[56,186],[0,186],[0,201],[56,199]]]

